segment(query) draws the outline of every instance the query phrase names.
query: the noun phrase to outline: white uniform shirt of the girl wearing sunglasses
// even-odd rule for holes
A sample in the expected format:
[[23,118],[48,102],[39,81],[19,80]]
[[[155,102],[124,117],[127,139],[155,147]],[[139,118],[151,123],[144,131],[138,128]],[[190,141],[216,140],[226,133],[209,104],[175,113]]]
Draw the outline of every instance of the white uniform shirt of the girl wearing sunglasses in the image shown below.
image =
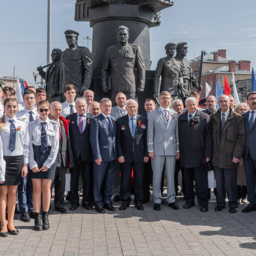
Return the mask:
[[[46,121],[42,121],[39,117],[37,120],[31,121],[28,123],[28,134],[29,134],[29,168],[37,167],[37,163],[34,160],[34,150],[33,145],[41,146],[41,131],[42,131],[42,122],[46,122],[45,131],[47,146],[51,146],[51,152],[47,160],[44,162],[44,166],[50,168],[54,164],[57,154],[59,152],[59,127],[58,123],[54,119],[47,118]],[[14,150],[15,151],[15,150]]]

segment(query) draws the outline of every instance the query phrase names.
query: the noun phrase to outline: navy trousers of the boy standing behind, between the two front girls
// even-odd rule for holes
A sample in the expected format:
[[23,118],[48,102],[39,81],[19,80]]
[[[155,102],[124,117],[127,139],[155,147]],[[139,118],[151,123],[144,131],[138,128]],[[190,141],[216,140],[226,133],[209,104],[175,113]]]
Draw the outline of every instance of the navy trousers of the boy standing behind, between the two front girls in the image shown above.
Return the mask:
[[32,179],[27,174],[24,178],[21,178],[20,184],[18,185],[18,200],[21,213],[34,212],[32,195]]

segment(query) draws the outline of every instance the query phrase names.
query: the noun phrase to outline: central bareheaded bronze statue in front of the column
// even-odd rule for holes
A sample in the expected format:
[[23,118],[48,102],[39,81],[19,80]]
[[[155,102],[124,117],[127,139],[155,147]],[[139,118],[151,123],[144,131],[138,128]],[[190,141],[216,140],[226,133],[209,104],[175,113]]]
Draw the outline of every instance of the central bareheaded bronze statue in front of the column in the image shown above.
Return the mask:
[[[116,29],[116,37],[118,44],[108,47],[104,58],[102,90],[104,93],[111,92],[113,104],[118,92],[124,92],[127,99],[137,101],[137,94],[143,93],[145,88],[145,65],[141,49],[138,45],[128,43],[129,28],[125,26]],[[111,79],[108,79],[110,76]]]

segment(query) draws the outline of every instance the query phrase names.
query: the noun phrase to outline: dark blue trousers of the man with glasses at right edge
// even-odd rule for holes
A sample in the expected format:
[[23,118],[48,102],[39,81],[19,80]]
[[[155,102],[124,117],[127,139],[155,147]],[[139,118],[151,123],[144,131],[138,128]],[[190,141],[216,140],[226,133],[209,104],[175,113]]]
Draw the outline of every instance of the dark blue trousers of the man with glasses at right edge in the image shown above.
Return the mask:
[[248,157],[244,159],[244,170],[246,176],[247,186],[247,201],[251,207],[256,206],[256,193],[255,193],[255,177],[256,177],[256,160],[251,158],[250,152]]

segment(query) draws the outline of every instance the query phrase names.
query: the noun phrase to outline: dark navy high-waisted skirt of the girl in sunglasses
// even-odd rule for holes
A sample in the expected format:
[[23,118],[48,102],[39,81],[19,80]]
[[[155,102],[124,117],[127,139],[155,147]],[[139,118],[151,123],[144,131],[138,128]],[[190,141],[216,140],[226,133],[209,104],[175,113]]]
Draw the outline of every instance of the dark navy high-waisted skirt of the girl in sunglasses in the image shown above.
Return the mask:
[[[41,146],[33,145],[33,149],[34,159],[38,165],[38,168],[40,169],[50,155],[51,146],[48,146],[48,151],[45,155],[41,152]],[[33,172],[29,169],[29,177],[32,179],[53,179],[55,175],[56,164],[57,158],[55,160],[55,163],[48,169],[48,171]]]

